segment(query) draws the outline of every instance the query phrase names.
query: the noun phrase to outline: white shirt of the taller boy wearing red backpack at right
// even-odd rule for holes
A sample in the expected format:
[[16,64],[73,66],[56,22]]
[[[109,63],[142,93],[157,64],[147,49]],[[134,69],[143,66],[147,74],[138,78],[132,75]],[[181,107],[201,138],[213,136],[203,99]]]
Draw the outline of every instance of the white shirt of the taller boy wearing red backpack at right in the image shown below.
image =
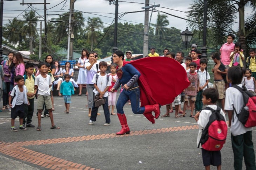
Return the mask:
[[[242,84],[238,84],[238,86],[242,87]],[[244,102],[243,102],[242,93],[234,87],[227,88],[224,109],[227,111],[231,111],[233,110],[233,106],[234,106],[237,111],[237,114],[239,114],[243,105],[244,105]],[[235,110],[233,111],[233,117],[234,117],[234,122],[233,122],[233,118],[229,121],[231,121],[230,132],[234,136],[241,135],[252,130],[252,128],[246,128],[243,126],[243,124],[238,120]]]

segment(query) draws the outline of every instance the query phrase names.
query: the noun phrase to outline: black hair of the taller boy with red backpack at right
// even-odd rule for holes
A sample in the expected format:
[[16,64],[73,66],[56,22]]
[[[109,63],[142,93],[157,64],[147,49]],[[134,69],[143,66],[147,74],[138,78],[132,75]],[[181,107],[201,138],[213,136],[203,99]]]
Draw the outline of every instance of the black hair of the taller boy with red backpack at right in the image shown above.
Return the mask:
[[240,84],[243,79],[243,72],[241,67],[232,66],[228,69],[228,79],[232,81],[232,84]]

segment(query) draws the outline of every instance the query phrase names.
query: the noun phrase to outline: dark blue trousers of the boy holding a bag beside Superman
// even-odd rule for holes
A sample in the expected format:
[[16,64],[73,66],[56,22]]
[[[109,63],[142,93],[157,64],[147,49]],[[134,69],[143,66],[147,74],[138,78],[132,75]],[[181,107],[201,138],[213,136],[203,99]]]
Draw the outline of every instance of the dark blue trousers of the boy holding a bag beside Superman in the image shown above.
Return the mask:
[[[110,123],[110,114],[109,114],[109,109],[108,109],[108,97],[103,97],[103,99],[105,99],[105,104],[103,104],[103,110],[104,110],[104,115],[105,115],[105,123]],[[93,107],[92,107],[92,113],[91,113],[91,117],[90,120],[92,121],[96,121],[97,118],[97,113],[98,113],[98,108],[99,107],[95,107],[95,102],[93,102]]]

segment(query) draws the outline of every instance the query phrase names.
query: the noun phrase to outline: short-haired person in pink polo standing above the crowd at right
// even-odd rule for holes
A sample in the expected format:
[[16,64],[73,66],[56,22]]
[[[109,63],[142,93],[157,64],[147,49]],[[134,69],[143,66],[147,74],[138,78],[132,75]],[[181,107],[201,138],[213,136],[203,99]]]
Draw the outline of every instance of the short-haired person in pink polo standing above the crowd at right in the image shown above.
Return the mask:
[[235,36],[233,34],[229,34],[227,38],[227,42],[222,45],[220,52],[221,52],[221,62],[225,65],[228,69],[228,65],[230,63],[230,54],[235,49],[235,44],[233,43]]

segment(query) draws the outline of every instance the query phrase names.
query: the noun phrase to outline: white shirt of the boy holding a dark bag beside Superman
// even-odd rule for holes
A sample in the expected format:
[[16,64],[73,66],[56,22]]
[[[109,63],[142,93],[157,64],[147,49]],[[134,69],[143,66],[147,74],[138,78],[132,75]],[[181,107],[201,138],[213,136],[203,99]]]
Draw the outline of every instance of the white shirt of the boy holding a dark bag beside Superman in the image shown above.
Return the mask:
[[[97,80],[97,86],[100,89],[100,91],[104,91],[107,86],[111,86],[112,80],[108,79],[108,84],[107,84],[107,73],[105,76],[101,76],[100,72],[94,75],[93,80],[92,80],[92,82],[94,84],[96,84],[96,75],[99,75],[98,80]],[[96,90],[96,88],[93,89],[93,92],[95,93],[95,95],[99,93]],[[103,97],[108,97],[108,91],[106,91],[106,93],[104,94]]]

